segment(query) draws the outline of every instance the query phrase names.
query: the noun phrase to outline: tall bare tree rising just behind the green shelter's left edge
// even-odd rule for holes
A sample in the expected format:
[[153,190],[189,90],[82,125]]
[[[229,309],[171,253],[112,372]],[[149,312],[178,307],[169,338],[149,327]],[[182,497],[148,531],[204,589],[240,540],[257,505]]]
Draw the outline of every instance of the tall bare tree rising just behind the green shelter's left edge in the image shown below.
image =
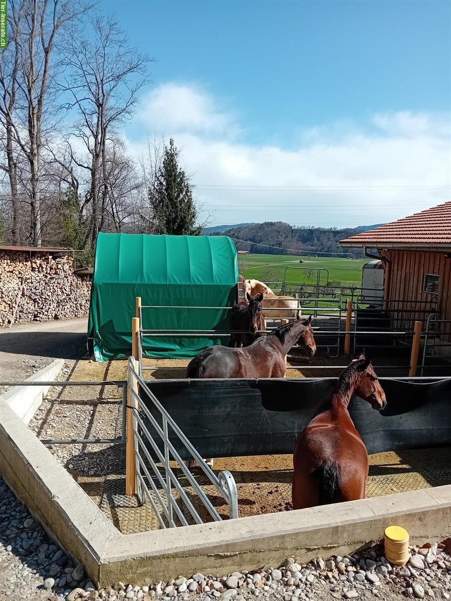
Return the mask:
[[152,60],[130,47],[112,17],[97,17],[93,34],[85,44],[79,44],[75,34],[68,35],[64,50],[68,70],[65,91],[73,98],[66,108],[76,108],[79,113],[73,135],[88,154],[88,160],[80,160],[80,164],[90,172],[92,246],[99,230],[105,227],[111,199],[108,149],[117,128],[132,116],[141,88],[149,82],[147,66]]

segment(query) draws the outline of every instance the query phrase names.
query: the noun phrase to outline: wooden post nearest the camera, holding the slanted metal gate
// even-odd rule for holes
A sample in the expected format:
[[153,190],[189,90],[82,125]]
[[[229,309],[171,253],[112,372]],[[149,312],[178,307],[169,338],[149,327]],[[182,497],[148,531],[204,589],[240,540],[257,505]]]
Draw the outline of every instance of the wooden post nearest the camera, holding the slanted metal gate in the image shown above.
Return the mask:
[[[138,317],[132,319],[132,362],[135,371],[138,370],[138,335],[140,331],[140,320]],[[132,386],[138,392],[138,382],[133,374],[128,374],[129,385],[127,387],[127,412],[126,412],[126,449],[125,449],[125,494],[136,495],[137,492],[137,466],[135,459],[135,440],[133,438],[133,409],[138,403],[130,390]]]

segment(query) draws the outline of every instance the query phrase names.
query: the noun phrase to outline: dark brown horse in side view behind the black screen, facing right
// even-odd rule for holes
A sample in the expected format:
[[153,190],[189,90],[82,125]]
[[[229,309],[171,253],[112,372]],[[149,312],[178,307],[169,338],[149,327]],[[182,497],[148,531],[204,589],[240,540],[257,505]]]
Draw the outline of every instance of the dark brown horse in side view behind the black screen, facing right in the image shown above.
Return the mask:
[[311,316],[302,320],[298,318],[258,338],[245,349],[211,346],[192,359],[186,369],[186,377],[284,377],[285,356],[296,342],[310,356],[316,351],[310,322]]

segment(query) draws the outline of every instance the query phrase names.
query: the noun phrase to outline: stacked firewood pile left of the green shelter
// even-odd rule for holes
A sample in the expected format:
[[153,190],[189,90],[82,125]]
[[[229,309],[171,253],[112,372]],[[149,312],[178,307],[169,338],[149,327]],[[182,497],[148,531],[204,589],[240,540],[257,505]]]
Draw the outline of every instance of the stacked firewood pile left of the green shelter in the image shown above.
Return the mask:
[[0,326],[87,316],[90,293],[70,256],[0,250]]

